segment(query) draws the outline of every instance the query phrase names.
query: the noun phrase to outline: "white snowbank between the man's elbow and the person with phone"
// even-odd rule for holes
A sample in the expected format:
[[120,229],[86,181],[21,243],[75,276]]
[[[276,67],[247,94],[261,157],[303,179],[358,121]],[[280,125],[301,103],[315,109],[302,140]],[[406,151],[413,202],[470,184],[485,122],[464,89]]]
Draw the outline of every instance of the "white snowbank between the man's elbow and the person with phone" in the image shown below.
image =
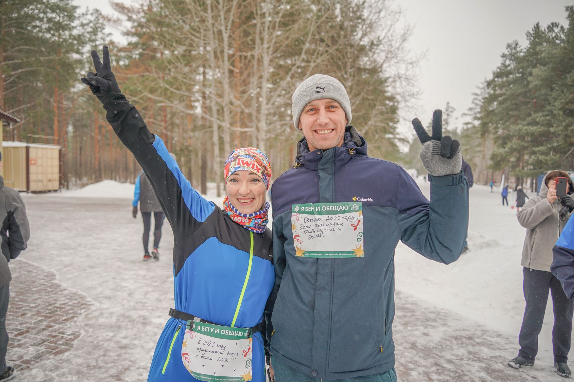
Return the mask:
[[[419,186],[428,198],[429,184]],[[512,192],[509,200],[512,203],[514,199]],[[518,336],[525,306],[520,265],[525,234],[516,210],[502,206],[498,192],[491,193],[487,186],[474,186],[470,190],[470,251],[445,266],[428,261],[399,243],[395,255],[397,290],[492,330]],[[551,348],[551,310],[549,304],[540,337],[541,350]]]

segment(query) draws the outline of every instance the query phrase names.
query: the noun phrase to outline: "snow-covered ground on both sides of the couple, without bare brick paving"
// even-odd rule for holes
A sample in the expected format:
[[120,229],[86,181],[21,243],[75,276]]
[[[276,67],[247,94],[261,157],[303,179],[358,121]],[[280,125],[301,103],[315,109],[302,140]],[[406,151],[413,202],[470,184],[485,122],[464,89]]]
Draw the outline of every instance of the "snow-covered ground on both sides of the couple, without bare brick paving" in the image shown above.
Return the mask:
[[[56,271],[61,283],[85,293],[96,308],[83,319],[86,335],[60,358],[61,372],[47,375],[34,367],[18,380],[146,379],[173,306],[173,235],[166,222],[161,261],[142,262],[141,218],[131,217],[133,185],[110,182],[61,194],[23,195],[32,238],[21,258]],[[428,184],[420,186],[428,196]],[[221,203],[221,198],[210,199]],[[506,366],[518,351],[524,309],[520,259],[525,229],[500,199],[490,187],[471,189],[471,250],[449,266],[398,246],[394,339],[400,381],[561,380],[552,371],[550,301],[536,365],[519,371]]]

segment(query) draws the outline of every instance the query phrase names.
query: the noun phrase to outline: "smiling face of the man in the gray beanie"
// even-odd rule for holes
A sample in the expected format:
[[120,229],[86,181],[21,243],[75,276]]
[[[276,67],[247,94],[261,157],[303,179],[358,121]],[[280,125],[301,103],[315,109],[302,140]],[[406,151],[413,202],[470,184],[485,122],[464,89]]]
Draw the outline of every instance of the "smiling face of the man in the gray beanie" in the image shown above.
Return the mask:
[[299,118],[299,129],[307,138],[309,150],[326,150],[343,144],[347,116],[332,99],[314,100],[305,105]]

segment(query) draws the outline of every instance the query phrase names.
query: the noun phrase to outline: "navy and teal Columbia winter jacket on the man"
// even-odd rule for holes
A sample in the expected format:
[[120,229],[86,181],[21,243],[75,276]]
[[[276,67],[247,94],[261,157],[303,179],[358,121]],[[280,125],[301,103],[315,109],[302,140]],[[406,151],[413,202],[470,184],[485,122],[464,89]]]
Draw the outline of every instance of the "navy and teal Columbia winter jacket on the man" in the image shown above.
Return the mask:
[[[309,151],[273,184],[276,283],[266,312],[270,352],[317,379],[373,375],[394,367],[394,250],[399,240],[442,263],[459,258],[468,226],[463,172],[431,176],[430,203],[397,164],[367,156],[347,127],[342,147]],[[292,205],[363,203],[364,257],[297,257]],[[270,320],[270,322],[269,322]],[[273,332],[271,329],[273,327]]]

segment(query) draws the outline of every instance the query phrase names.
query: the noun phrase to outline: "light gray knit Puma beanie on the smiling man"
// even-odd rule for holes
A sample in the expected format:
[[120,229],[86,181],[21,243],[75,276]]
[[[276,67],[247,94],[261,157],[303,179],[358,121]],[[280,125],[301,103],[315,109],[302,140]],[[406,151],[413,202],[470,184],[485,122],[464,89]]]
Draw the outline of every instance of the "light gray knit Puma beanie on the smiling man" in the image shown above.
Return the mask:
[[299,128],[299,117],[305,105],[314,100],[329,98],[337,101],[347,116],[347,125],[351,123],[351,102],[347,90],[339,80],[326,74],[313,74],[307,80],[301,82],[291,101],[291,113],[293,114],[293,124]]

